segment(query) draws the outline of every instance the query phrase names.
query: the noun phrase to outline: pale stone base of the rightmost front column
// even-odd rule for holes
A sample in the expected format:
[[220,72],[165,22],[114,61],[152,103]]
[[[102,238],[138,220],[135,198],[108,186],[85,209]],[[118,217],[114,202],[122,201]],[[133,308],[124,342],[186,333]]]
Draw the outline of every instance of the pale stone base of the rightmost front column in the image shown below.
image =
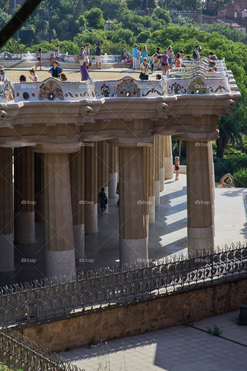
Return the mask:
[[192,255],[197,250],[201,253],[202,249],[214,249],[214,228],[191,228],[187,227],[188,252]]

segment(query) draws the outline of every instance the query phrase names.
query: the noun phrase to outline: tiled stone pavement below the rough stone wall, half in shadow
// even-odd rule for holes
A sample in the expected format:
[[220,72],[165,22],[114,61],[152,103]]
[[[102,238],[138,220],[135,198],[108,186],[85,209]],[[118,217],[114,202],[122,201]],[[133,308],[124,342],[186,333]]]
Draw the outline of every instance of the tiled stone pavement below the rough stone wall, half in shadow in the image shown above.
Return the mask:
[[[236,325],[238,313],[204,319],[193,327],[162,329],[57,355],[85,371],[246,371],[247,327]],[[227,339],[200,331],[213,325]]]

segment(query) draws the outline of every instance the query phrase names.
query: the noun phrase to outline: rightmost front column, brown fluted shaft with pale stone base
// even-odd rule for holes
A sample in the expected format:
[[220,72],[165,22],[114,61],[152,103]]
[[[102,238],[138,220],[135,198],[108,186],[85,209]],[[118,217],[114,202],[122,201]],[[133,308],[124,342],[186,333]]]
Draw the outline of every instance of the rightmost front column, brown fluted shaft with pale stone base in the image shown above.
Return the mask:
[[214,248],[208,142],[186,141],[188,252]]

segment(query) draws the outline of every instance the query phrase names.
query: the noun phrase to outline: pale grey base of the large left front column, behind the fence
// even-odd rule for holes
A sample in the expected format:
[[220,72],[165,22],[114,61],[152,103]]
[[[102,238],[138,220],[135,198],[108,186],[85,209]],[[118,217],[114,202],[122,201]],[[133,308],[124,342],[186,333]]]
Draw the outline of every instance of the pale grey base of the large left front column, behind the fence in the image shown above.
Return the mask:
[[75,250],[49,251],[45,250],[46,276],[65,276],[69,280],[75,278]]

